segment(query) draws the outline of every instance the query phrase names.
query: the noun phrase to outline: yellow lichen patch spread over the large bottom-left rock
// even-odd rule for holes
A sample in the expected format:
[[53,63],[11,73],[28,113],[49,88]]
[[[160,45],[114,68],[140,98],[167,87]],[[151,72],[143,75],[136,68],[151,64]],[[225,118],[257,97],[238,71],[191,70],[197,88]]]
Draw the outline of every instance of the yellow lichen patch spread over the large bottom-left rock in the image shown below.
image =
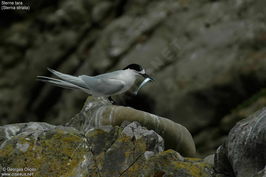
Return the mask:
[[[72,173],[77,168],[79,163],[82,163],[84,157],[77,156],[75,152],[81,154],[88,154],[90,151],[80,143],[84,143],[82,137],[73,134],[66,134],[64,131],[57,131],[51,139],[45,139],[45,136],[40,136],[38,141],[35,139],[25,139],[25,137],[18,136],[20,143],[29,143],[29,148],[22,154],[14,155],[12,145],[6,145],[0,149],[1,157],[13,156],[12,165],[14,167],[36,168],[35,176],[50,176],[50,173],[59,172],[58,176],[74,176]],[[65,134],[63,134],[65,133]],[[76,151],[77,148],[79,151]],[[83,148],[82,148],[83,147]],[[2,163],[7,163],[4,161]],[[42,165],[47,164],[46,171],[42,173]],[[60,170],[59,170],[60,169]]]

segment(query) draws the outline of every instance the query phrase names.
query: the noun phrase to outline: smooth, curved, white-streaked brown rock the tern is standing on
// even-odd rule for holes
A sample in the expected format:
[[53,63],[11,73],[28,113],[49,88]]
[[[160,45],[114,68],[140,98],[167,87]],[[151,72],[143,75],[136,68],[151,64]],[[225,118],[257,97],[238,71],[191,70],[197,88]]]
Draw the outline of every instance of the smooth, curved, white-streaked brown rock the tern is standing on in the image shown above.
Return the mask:
[[[110,105],[110,102],[102,97],[89,96],[81,112],[74,116],[66,126],[87,131],[95,126],[121,125],[123,121],[137,121],[147,129],[154,130],[165,140],[166,149],[176,150],[185,157],[195,155],[194,141],[184,126],[133,108]],[[127,130],[125,132],[133,134]]]

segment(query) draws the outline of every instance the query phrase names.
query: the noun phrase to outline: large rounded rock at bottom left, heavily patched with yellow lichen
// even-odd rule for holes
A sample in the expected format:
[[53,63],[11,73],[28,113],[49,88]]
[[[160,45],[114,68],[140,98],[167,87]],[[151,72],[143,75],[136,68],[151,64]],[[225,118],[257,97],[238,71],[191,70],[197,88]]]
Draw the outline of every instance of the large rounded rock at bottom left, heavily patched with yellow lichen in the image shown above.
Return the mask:
[[[0,130],[8,132],[20,125],[2,126]],[[76,176],[77,172],[80,176],[95,171],[93,153],[84,134],[72,127],[61,127],[30,122],[16,129],[16,134],[9,134],[0,144],[1,166],[23,168],[21,173],[29,173],[25,167],[35,168],[33,176]]]

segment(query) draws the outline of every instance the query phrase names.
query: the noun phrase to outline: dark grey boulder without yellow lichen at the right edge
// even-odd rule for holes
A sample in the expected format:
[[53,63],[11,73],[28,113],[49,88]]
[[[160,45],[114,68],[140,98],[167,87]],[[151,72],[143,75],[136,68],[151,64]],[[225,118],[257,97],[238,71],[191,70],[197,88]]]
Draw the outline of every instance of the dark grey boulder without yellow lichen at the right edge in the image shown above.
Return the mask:
[[[252,176],[266,165],[266,107],[239,121],[215,153],[218,173]],[[233,174],[234,173],[234,174]]]

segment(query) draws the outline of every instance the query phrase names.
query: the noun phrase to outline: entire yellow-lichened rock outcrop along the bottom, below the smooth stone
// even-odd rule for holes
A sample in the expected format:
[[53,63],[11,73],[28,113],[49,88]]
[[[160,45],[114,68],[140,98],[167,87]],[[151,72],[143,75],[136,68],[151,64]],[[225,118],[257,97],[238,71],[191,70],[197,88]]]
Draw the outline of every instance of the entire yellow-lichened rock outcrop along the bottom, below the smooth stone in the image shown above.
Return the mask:
[[137,122],[85,132],[30,122],[1,126],[0,132],[1,173],[16,172],[7,171],[9,167],[43,177],[214,177],[212,165],[202,159],[182,157],[174,150],[163,152],[162,137]]

